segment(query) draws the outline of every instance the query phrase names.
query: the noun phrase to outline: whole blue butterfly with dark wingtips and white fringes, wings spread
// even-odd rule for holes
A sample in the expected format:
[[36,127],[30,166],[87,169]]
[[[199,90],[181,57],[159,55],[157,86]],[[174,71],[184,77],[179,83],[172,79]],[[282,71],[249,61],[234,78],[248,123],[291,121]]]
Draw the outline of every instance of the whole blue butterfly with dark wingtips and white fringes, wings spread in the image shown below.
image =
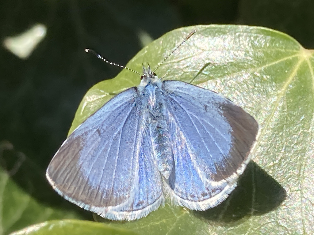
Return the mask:
[[235,189],[256,120],[214,91],[162,81],[155,70],[143,65],[139,86],[89,116],[54,155],[46,177],[66,200],[107,219],[135,220],[165,199],[205,211]]

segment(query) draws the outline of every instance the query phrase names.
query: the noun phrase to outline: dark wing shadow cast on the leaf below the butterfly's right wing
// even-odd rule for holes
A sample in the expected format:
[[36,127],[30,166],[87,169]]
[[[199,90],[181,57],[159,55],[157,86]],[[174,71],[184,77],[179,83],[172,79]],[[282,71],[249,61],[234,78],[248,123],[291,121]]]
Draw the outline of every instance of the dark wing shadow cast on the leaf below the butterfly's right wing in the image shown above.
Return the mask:
[[193,212],[211,221],[233,222],[245,216],[261,215],[277,208],[286,198],[284,188],[250,161],[238,186],[219,206],[205,212]]

